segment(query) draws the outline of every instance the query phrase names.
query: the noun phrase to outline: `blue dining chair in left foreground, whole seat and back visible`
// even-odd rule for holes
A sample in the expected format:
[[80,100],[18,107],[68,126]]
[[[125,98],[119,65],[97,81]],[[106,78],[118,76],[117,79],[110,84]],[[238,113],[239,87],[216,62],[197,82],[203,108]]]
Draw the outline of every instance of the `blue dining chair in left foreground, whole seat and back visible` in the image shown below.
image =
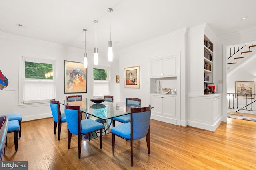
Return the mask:
[[82,120],[80,106],[65,105],[65,115],[68,124],[68,149],[70,149],[72,134],[78,135],[78,158],[81,158],[82,135],[88,134],[89,141],[92,132],[100,131],[100,149],[102,148],[103,124],[92,119]]

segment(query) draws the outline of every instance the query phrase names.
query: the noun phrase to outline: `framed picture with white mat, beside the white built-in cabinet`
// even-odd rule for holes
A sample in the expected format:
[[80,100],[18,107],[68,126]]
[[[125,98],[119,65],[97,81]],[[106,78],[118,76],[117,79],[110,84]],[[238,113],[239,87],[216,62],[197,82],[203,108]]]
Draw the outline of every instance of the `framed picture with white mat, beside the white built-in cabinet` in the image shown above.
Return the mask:
[[124,88],[140,88],[140,66],[124,68]]

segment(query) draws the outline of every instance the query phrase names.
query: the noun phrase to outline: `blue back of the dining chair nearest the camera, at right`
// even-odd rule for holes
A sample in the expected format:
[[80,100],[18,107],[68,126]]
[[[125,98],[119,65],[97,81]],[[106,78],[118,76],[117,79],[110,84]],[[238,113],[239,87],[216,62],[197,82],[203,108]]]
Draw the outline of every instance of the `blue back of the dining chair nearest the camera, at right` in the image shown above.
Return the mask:
[[150,127],[151,105],[131,109],[131,140],[145,137]]

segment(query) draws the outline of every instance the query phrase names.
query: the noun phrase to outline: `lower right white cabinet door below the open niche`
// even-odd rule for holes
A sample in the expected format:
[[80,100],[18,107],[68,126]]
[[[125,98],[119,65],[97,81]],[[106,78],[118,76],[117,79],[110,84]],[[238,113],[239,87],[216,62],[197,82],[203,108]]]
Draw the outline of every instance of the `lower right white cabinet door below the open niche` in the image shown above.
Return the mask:
[[176,117],[175,97],[164,96],[163,98],[163,115],[168,117]]

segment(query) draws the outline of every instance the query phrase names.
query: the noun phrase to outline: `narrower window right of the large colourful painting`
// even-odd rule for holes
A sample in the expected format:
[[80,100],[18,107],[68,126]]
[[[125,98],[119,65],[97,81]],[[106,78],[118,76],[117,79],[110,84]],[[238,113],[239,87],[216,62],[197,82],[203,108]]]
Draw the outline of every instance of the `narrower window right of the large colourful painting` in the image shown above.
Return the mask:
[[103,97],[110,94],[109,67],[93,66],[93,96]]

